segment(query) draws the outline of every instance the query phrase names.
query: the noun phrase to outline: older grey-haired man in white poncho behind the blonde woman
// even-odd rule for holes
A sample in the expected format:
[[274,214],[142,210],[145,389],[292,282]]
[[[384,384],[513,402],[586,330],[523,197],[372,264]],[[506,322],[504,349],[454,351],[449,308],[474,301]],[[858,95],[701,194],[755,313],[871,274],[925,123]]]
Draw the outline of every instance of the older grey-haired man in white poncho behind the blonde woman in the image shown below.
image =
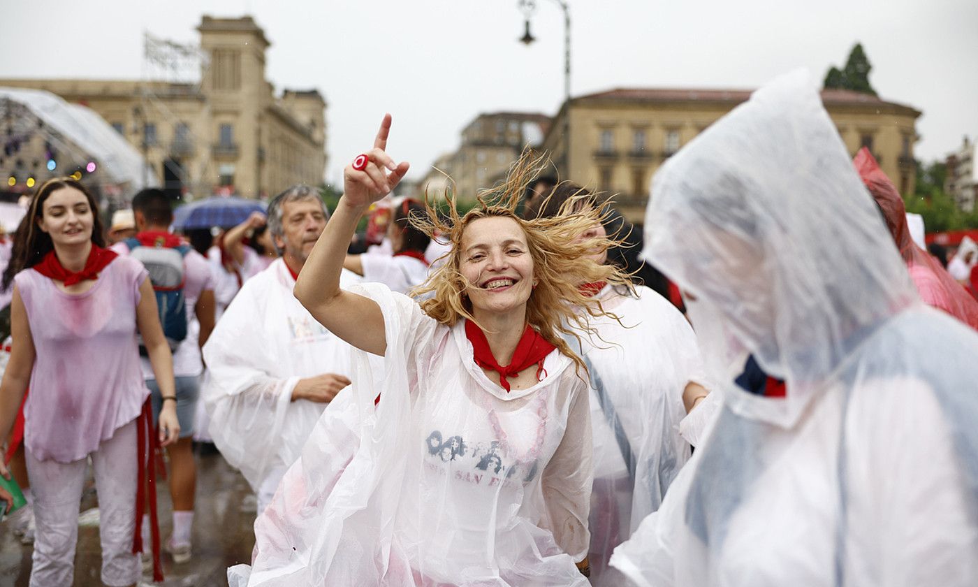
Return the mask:
[[[203,347],[203,398],[214,444],[257,494],[260,514],[336,393],[350,384],[350,347],[292,295],[326,227],[315,189],[294,186],[268,205],[282,256],[244,283]],[[344,287],[359,278],[344,271]]]

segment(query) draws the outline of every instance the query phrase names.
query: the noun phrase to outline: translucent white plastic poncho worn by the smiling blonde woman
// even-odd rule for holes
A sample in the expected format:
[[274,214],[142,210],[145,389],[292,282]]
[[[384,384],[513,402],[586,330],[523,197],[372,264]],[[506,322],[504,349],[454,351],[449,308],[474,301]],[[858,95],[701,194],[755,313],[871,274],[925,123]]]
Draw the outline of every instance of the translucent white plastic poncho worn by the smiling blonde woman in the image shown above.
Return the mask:
[[[232,587],[587,587],[587,384],[552,351],[507,392],[472,359],[465,322],[426,316],[381,284],[350,291],[383,314],[377,368],[354,351],[330,405],[255,522]],[[375,406],[375,398],[380,394]]]

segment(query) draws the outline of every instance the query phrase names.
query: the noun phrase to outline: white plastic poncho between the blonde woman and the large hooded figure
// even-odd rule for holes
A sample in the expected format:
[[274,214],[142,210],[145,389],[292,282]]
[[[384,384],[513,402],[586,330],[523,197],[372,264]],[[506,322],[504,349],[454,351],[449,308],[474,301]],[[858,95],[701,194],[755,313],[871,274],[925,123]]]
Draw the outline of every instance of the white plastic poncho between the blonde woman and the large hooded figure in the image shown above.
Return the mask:
[[612,550],[658,509],[689,460],[679,432],[683,390],[704,375],[695,335],[672,303],[642,286],[635,294],[618,290],[605,286],[597,297],[621,322],[591,319],[596,332],[583,334],[581,345],[595,446],[588,558],[592,585],[608,586],[620,585],[617,573],[606,572]]

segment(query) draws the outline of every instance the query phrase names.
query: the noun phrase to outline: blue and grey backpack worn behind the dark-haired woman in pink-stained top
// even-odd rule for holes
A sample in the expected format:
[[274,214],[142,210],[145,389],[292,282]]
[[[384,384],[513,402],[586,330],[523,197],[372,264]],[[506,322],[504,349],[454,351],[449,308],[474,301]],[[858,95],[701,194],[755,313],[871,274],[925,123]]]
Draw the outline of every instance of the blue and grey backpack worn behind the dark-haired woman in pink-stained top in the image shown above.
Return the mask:
[[[187,302],[184,297],[184,281],[186,267],[184,257],[190,252],[190,247],[163,247],[162,242],[156,247],[147,247],[138,239],[126,239],[129,256],[139,260],[150,273],[150,283],[156,294],[156,310],[159,312],[159,324],[163,327],[163,335],[170,345],[170,351],[176,350],[183,339],[187,338]],[[146,346],[140,339],[139,351],[146,355]]]

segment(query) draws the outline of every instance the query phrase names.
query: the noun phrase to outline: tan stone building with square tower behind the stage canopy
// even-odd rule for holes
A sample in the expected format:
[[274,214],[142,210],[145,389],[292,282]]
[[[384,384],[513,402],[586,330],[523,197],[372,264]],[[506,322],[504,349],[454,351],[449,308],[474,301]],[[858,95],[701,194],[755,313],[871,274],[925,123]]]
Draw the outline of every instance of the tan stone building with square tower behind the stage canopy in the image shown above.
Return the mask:
[[[274,196],[319,185],[327,156],[327,104],[312,90],[276,96],[265,78],[269,42],[250,17],[203,17],[199,83],[160,80],[0,79],[88,106],[152,164],[174,195],[217,189]],[[152,180],[151,180],[152,183]]]

